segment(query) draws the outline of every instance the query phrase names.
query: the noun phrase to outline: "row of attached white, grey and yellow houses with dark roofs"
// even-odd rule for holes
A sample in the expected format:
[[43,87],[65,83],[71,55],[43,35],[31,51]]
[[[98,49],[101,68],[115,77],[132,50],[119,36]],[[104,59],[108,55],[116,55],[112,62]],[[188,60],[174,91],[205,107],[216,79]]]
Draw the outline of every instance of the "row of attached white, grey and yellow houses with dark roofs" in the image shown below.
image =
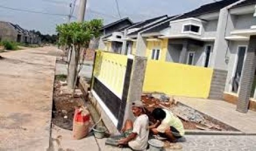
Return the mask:
[[245,113],[256,99],[255,4],[217,1],[138,22],[124,29],[121,54],[213,69],[208,98],[224,98]]

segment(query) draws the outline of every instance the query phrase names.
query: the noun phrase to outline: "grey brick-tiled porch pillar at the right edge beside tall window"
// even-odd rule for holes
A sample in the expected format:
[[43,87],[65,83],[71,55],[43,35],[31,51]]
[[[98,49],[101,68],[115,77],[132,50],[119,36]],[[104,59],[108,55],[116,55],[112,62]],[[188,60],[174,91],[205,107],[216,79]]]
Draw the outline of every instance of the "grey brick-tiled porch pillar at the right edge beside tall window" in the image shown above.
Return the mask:
[[250,36],[249,46],[243,65],[241,76],[241,85],[238,95],[237,111],[242,113],[248,112],[250,92],[256,68],[256,35]]

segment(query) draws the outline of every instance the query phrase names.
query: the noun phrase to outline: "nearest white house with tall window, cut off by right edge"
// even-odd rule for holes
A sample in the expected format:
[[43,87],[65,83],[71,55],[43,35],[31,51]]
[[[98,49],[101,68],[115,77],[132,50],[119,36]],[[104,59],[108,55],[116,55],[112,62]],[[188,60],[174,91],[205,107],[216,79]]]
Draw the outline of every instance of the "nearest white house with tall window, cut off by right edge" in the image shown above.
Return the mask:
[[223,48],[227,70],[224,98],[237,104],[237,110],[247,112],[255,102],[256,91],[256,1],[246,0],[223,13],[223,34],[219,34],[219,48]]

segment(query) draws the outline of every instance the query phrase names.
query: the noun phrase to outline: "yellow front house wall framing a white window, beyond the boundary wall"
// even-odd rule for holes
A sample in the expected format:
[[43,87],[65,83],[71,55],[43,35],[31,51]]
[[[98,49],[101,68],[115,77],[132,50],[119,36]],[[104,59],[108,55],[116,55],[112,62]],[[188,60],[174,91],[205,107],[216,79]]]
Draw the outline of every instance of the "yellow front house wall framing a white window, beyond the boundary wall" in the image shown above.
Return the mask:
[[168,51],[168,39],[162,39],[157,41],[148,41],[146,43],[146,57],[148,60],[151,60],[152,49],[159,48],[160,49],[160,59],[159,61],[165,61],[166,53]]

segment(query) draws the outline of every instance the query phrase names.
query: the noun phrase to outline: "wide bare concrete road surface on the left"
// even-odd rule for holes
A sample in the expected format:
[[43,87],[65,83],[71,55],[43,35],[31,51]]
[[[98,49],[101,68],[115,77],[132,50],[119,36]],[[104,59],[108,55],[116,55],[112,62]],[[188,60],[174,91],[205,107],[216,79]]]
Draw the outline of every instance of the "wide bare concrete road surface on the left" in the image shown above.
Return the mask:
[[1,54],[0,150],[48,148],[58,53],[43,47]]

